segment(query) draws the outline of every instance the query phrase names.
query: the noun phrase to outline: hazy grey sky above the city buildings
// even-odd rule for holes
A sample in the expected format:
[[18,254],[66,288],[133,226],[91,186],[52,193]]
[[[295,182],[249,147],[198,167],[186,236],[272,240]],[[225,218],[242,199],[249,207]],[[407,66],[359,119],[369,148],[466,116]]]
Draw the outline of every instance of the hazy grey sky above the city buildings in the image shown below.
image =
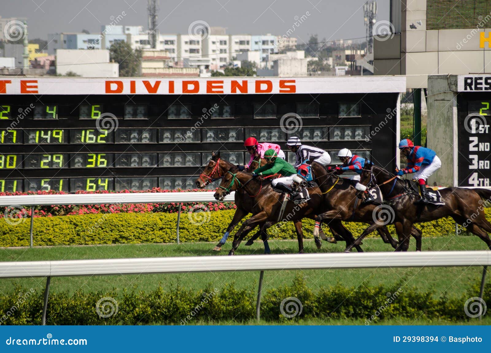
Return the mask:
[[[101,25],[123,15],[118,25],[148,28],[146,0],[1,0],[0,16],[27,17],[29,39],[47,39],[48,33],[100,32]],[[319,40],[365,36],[364,0],[160,0],[161,33],[188,33],[194,21],[226,27],[227,34],[286,34],[296,19],[292,37],[299,44],[310,34]],[[388,20],[389,0],[378,1],[378,19]],[[123,14],[124,11],[124,14]],[[296,16],[298,16],[296,18]],[[305,18],[305,17],[304,17]]]

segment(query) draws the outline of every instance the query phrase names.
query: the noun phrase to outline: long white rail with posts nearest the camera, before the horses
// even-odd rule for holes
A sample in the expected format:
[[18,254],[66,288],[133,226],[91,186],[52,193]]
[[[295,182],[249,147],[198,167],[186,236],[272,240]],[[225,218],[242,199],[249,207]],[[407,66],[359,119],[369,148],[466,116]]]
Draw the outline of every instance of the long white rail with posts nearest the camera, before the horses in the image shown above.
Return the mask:
[[264,271],[354,269],[394,267],[483,266],[482,298],[491,251],[364,252],[331,254],[286,254],[243,256],[161,257],[139,259],[0,262],[0,278],[46,277],[42,323],[46,312],[51,277],[260,271],[256,318],[260,317]]

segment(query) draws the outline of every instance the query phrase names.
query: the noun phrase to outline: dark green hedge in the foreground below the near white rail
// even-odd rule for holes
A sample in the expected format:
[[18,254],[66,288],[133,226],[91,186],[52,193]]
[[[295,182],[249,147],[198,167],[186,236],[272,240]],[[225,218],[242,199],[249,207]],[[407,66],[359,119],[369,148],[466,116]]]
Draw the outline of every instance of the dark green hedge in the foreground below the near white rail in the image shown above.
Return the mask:
[[[399,283],[387,287],[363,285],[347,288],[337,285],[313,292],[302,278],[297,277],[291,286],[263,294],[261,318],[272,322],[313,318],[364,319],[365,325],[392,317],[469,320],[464,312],[464,303],[468,298],[475,297],[478,290],[478,285],[475,285],[461,298],[443,295],[437,299],[433,292],[418,292],[415,288],[401,287]],[[5,313],[0,318],[0,324],[41,324],[43,293],[27,294],[28,291],[18,287],[12,295],[0,295],[0,312]],[[491,302],[491,284],[486,285],[483,299]],[[168,292],[162,288],[152,292],[125,291],[122,295],[63,292],[50,295],[47,324],[186,325],[192,320],[242,322],[255,317],[255,301],[255,289],[239,290],[233,284],[226,284],[221,289],[208,287],[199,292],[183,288]],[[282,302],[283,313],[293,316],[297,312],[298,315],[293,318],[282,315]]]

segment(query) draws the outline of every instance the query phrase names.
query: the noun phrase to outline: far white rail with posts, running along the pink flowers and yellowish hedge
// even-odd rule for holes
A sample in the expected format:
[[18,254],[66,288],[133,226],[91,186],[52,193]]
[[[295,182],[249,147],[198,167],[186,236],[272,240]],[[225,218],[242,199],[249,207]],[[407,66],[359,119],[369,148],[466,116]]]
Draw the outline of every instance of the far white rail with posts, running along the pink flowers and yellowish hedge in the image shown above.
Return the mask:
[[215,191],[190,192],[137,192],[137,193],[90,193],[55,195],[15,195],[0,196],[0,207],[22,205],[31,207],[30,247],[33,246],[34,206],[44,205],[118,205],[130,203],[179,203],[177,211],[176,239],[179,244],[179,223],[183,202],[234,202],[235,191],[223,201],[215,200]]

